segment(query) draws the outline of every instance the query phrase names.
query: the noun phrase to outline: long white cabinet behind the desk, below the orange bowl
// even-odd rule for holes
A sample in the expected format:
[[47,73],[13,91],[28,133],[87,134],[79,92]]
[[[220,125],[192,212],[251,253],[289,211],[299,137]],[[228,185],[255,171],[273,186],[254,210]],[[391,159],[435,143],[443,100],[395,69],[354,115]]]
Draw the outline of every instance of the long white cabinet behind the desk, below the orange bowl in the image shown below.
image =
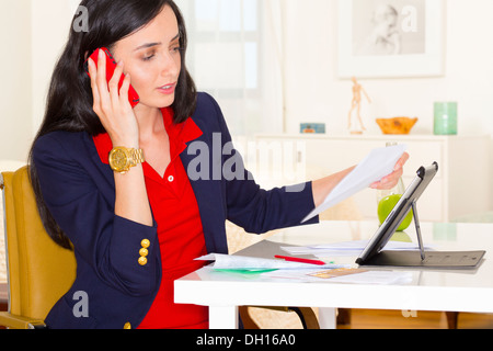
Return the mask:
[[[311,180],[313,174],[319,178],[357,165],[371,149],[385,147],[389,141],[408,146],[411,158],[404,168],[405,185],[420,167],[438,162],[437,177],[417,203],[422,220],[449,222],[458,216],[491,211],[489,136],[259,135],[255,137],[256,154],[252,158],[250,152],[248,163],[252,160],[262,163],[264,155],[264,166],[259,166],[255,171],[262,173],[265,159],[270,160],[270,166],[283,174],[283,179],[277,177],[275,185],[282,185],[286,180],[300,180],[300,176]],[[270,157],[265,157],[266,150],[271,150]],[[365,190],[354,200],[365,218],[377,217],[375,190]]]

